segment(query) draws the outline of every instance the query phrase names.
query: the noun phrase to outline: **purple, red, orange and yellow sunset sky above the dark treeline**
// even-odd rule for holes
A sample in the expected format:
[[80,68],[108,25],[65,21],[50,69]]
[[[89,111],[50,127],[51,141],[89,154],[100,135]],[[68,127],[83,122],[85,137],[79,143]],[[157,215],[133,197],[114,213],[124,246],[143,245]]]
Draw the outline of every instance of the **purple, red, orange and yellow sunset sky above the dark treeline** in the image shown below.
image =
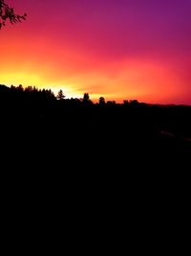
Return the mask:
[[0,83],[191,105],[191,0],[7,0]]

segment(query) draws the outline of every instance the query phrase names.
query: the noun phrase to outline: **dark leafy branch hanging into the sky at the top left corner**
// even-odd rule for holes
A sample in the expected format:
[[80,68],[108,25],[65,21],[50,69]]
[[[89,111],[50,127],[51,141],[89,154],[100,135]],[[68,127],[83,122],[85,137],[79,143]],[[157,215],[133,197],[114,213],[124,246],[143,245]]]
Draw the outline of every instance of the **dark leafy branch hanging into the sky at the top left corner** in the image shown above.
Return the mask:
[[5,0],[0,0],[0,30],[6,25],[6,21],[10,20],[11,24],[21,22],[26,19],[27,14],[15,14],[13,8],[5,3]]

